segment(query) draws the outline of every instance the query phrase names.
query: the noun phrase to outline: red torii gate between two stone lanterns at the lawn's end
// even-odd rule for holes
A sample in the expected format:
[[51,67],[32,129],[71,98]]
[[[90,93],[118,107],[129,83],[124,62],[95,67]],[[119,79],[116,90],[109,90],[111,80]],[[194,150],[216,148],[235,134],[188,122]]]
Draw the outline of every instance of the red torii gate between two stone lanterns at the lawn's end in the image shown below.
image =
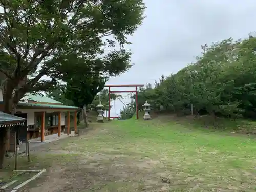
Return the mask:
[[[138,110],[138,87],[144,87],[144,84],[112,84],[105,86],[109,88],[109,113],[108,119],[110,118],[118,118],[118,117],[110,117],[110,94],[111,93],[135,93],[136,94],[136,118],[139,119],[139,110]],[[135,87],[135,91],[111,91],[111,87]],[[115,114],[116,115],[116,114]]]

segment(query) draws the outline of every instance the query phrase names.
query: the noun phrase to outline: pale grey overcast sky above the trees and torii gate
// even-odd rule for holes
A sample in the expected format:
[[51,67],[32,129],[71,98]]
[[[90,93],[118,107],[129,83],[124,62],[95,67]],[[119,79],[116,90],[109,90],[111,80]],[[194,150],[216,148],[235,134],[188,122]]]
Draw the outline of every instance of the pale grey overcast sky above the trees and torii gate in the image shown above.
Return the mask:
[[[255,0],[144,0],[144,3],[147,18],[129,37],[132,45],[127,46],[133,52],[135,65],[107,84],[154,83],[162,74],[176,73],[194,61],[201,52],[200,45],[229,37],[244,38],[256,31]],[[116,101],[116,113],[122,108],[123,104]],[[114,108],[111,115],[115,115]]]

